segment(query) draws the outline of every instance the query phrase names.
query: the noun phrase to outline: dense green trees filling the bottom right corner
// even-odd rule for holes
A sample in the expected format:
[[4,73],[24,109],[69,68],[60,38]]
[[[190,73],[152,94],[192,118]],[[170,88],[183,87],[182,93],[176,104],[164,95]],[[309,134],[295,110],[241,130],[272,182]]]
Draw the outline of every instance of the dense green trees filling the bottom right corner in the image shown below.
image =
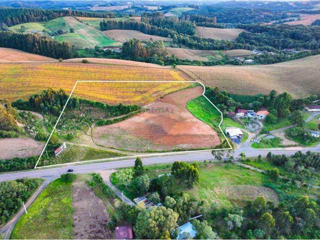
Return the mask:
[[318,204],[308,196],[294,196],[277,205],[258,196],[243,208],[219,208],[213,203],[210,218],[217,228],[224,222],[226,230],[219,234],[225,239],[318,238],[318,213]]

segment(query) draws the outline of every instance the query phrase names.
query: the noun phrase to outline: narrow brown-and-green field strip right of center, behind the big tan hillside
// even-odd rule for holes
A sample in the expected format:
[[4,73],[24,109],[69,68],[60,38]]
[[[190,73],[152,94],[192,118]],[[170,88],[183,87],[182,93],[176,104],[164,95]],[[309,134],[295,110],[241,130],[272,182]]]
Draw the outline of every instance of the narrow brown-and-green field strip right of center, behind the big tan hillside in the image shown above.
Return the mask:
[[217,50],[194,50],[194,49],[186,49],[186,48],[173,48],[166,47],[165,48],[170,54],[174,54],[174,56],[181,59],[189,59],[189,60],[199,60],[199,61],[208,61],[210,57],[221,59],[223,55],[228,56],[247,56],[253,55],[252,51],[244,50],[244,49],[233,49],[233,50],[225,50],[225,51],[217,51]]

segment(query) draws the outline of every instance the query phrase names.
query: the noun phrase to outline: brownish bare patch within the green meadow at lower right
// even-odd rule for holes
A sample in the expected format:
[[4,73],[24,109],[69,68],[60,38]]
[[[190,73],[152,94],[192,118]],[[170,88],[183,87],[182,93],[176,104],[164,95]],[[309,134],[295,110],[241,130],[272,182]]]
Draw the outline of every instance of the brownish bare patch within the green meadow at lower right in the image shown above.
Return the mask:
[[275,191],[265,186],[238,185],[224,188],[225,194],[231,200],[254,200],[257,196],[264,196],[266,200],[279,203]]

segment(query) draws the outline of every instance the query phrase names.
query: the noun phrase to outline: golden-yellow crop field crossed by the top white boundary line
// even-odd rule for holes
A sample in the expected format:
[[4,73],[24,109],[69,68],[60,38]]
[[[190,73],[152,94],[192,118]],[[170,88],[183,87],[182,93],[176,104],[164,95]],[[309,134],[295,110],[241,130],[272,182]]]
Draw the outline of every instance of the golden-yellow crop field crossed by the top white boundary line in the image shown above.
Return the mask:
[[[73,62],[2,63],[0,96],[11,101],[27,99],[43,89],[63,88],[70,92],[76,80],[184,80],[183,73],[171,68],[125,65],[83,64]],[[159,95],[185,87],[181,83],[83,83],[75,94],[109,104],[145,104]]]

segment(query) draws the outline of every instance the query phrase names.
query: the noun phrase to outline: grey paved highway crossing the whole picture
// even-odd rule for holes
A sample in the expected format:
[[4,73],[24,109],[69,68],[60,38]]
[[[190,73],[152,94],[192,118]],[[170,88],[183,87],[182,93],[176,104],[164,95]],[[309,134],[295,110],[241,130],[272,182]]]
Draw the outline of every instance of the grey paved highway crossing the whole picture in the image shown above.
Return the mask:
[[[235,158],[238,157],[240,152],[244,152],[246,156],[257,156],[261,154],[265,156],[269,151],[273,154],[286,154],[292,155],[294,152],[301,150],[305,152],[307,150],[311,151],[320,151],[320,146],[316,147],[287,147],[287,148],[272,148],[272,149],[237,149],[235,150]],[[18,171],[18,172],[10,172],[0,174],[0,181],[4,180],[13,180],[16,178],[22,177],[51,177],[58,176],[61,173],[67,171],[67,169],[72,168],[75,173],[85,173],[85,172],[93,172],[105,169],[114,169],[121,167],[130,167],[134,165],[135,158],[129,158],[125,160],[116,160],[116,161],[108,161],[108,162],[94,162],[94,163],[86,163],[86,164],[77,164],[77,165],[63,165],[51,168],[38,168],[27,171]],[[173,161],[203,161],[203,160],[213,160],[213,156],[210,151],[196,151],[196,152],[188,152],[188,153],[176,153],[174,155],[161,155],[161,156],[149,156],[143,157],[143,164],[160,164],[160,163],[170,163]]]

